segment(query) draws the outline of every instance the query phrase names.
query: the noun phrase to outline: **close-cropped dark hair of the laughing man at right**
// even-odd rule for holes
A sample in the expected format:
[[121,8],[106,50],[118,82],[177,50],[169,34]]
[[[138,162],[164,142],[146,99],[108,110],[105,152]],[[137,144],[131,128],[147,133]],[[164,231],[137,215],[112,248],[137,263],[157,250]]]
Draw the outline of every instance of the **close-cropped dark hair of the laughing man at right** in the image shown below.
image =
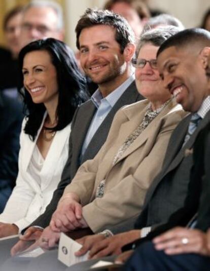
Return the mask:
[[210,32],[201,28],[190,28],[180,31],[171,36],[159,48],[157,56],[169,47],[183,48],[198,48],[202,50],[205,46],[210,46]]

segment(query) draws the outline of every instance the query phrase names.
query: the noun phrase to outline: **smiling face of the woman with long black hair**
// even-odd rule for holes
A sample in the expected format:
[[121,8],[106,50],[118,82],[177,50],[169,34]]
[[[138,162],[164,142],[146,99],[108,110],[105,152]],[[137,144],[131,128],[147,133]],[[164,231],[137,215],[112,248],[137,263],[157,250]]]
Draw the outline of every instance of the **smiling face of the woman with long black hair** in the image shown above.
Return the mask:
[[34,103],[57,107],[57,72],[47,51],[32,51],[23,59],[23,84]]

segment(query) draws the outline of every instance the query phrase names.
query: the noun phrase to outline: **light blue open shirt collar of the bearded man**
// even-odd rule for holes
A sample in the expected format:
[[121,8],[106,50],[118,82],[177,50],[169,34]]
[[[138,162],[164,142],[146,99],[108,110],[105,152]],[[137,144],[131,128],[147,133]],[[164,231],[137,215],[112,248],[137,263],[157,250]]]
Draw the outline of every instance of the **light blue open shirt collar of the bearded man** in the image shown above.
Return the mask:
[[103,98],[99,89],[97,89],[93,95],[91,96],[91,100],[94,103],[94,105],[98,108],[102,101],[106,100],[111,107],[115,105],[115,103],[118,101],[120,96],[125,92],[125,90],[128,88],[128,86],[134,81],[134,73],[117,89],[115,89],[113,92],[111,92],[107,97]]

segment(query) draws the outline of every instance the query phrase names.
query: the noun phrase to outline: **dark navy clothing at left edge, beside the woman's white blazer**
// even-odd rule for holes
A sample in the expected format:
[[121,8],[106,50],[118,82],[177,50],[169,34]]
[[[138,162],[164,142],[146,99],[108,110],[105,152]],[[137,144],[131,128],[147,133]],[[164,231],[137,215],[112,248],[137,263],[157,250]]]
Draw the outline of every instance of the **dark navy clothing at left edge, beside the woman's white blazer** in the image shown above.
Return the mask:
[[15,186],[18,174],[19,136],[23,114],[17,99],[0,92],[0,213]]

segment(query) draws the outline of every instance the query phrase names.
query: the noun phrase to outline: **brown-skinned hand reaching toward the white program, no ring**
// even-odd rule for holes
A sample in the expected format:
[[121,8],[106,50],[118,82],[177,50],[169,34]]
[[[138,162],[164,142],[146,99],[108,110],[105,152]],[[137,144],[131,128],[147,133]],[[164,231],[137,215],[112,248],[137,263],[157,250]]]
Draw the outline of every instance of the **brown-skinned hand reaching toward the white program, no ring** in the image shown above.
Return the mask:
[[[106,239],[101,238],[101,240],[99,240],[98,238],[95,238],[95,236],[92,236],[92,238],[90,236],[89,240],[87,240],[89,247],[88,245],[86,245],[86,247],[88,247],[88,249],[90,250],[89,259],[96,259],[96,258],[108,256],[108,255],[119,255],[122,253],[121,248],[124,245],[127,245],[139,239],[139,237],[140,237],[140,230],[130,230],[126,233],[114,235]],[[80,256],[80,255],[82,254],[79,254],[77,256]]]

